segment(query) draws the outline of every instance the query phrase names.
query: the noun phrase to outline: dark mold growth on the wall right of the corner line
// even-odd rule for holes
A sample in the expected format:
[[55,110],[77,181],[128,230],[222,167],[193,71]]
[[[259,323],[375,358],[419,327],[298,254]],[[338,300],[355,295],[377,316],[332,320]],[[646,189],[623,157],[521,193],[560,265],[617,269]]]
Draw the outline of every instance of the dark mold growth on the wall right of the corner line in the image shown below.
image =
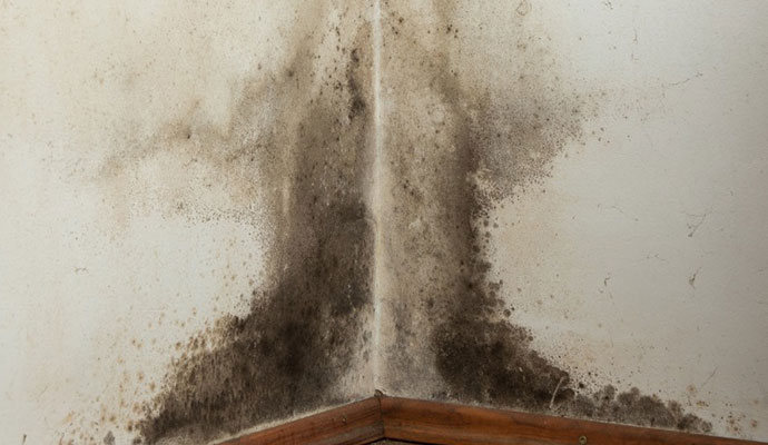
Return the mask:
[[[453,3],[434,7],[449,31],[456,29]],[[582,138],[597,99],[569,90],[555,67],[539,63],[550,58],[541,38],[521,31],[510,44],[516,70],[508,73],[508,85],[492,86],[459,72],[469,63],[453,47],[456,39],[435,37],[433,47],[423,44],[423,29],[403,26],[402,16],[408,13],[390,9],[384,27],[391,29],[386,56],[396,59],[384,78],[387,86],[402,86],[392,99],[401,108],[384,125],[388,168],[398,185],[391,188],[397,214],[387,247],[396,258],[392,264],[403,265],[393,271],[397,333],[386,349],[388,384],[408,392],[410,380],[420,382],[424,365],[412,359],[413,346],[402,345],[419,344],[426,320],[429,353],[416,354],[432,354],[444,380],[433,397],[708,432],[708,423],[679,404],[638,389],[617,395],[607,386],[581,394],[568,372],[531,347],[529,330],[503,306],[502,283],[489,277],[485,227],[492,210],[550,175],[552,159]]]

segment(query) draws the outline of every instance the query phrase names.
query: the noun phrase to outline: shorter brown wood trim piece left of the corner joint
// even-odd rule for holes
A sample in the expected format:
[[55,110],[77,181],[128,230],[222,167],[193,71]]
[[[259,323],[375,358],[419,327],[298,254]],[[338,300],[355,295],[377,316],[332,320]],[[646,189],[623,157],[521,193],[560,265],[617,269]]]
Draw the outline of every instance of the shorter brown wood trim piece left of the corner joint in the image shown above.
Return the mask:
[[360,445],[384,438],[377,397],[245,435],[223,445]]

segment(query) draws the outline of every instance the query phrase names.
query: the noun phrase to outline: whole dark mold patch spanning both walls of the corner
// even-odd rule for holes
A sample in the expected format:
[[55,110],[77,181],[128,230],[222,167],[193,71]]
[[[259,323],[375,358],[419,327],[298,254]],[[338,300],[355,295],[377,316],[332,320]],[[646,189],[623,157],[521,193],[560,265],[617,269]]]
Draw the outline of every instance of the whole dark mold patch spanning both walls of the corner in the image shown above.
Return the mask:
[[[463,24],[461,2],[417,6],[349,7],[331,26],[318,14],[284,69],[254,69],[227,131],[174,122],[150,138],[244,202],[258,195],[275,239],[250,312],[189,343],[131,425],[138,442],[211,439],[348,402],[345,378],[365,372],[402,396],[709,429],[634,389],[584,393],[505,312],[490,211],[550,174],[600,93],[560,80],[523,23],[530,6],[504,31],[511,61],[486,67],[467,53],[484,31]],[[254,137],[256,125],[267,130]]]

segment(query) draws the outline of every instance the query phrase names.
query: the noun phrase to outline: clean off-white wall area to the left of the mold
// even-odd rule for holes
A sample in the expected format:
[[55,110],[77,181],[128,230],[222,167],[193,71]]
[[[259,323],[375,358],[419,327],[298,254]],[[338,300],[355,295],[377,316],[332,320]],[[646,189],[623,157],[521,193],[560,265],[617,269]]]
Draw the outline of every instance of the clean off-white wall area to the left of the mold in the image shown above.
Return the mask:
[[244,72],[283,62],[293,8],[10,1],[0,17],[0,443],[127,444],[176,344],[248,310],[270,231],[257,202],[239,218],[173,159],[117,186],[100,172],[195,105],[226,122]]

